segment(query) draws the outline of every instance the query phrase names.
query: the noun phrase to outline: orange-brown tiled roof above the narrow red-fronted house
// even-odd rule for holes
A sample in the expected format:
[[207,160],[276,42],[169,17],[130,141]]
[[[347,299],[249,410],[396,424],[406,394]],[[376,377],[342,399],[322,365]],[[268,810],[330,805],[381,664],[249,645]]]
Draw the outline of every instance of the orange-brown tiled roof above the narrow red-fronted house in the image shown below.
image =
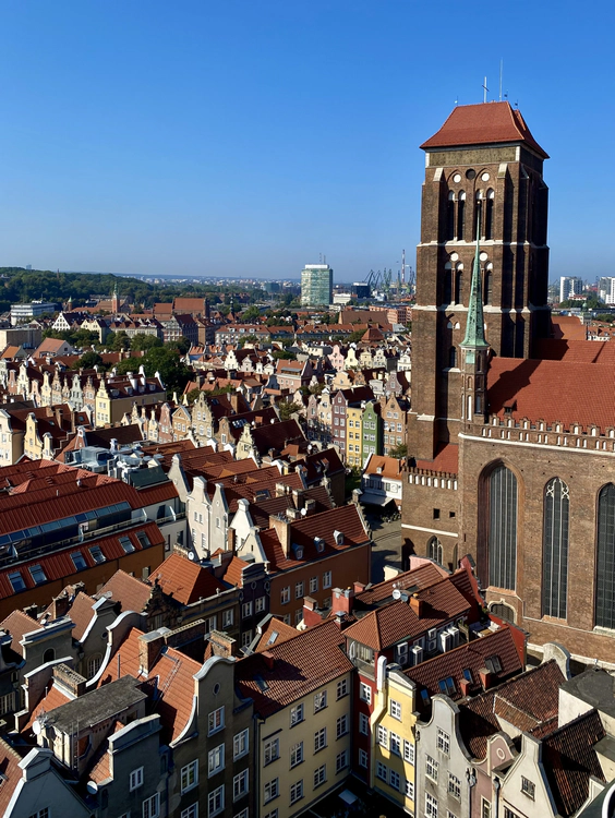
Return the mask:
[[354,625],[350,625],[345,635],[372,650],[382,651],[401,639],[412,639],[430,628],[438,627],[443,622],[462,616],[470,610],[467,600],[448,577],[413,596],[423,603],[420,616],[411,606],[410,600],[400,600],[365,614]]

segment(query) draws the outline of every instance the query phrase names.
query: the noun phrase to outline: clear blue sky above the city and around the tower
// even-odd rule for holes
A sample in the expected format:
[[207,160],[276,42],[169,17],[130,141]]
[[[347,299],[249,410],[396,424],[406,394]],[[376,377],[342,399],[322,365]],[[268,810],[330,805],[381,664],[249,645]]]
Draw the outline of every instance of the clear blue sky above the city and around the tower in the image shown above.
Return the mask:
[[612,3],[3,0],[0,265],[337,280],[414,265],[423,153],[518,103],[551,278],[605,273]]

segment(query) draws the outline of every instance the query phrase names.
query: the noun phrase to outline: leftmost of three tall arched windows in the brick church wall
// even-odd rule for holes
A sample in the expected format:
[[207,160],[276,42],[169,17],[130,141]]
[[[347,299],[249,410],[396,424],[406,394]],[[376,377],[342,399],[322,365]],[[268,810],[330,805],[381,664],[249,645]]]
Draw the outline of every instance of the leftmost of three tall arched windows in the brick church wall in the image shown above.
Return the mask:
[[517,576],[517,478],[497,466],[489,479],[489,584],[515,590]]

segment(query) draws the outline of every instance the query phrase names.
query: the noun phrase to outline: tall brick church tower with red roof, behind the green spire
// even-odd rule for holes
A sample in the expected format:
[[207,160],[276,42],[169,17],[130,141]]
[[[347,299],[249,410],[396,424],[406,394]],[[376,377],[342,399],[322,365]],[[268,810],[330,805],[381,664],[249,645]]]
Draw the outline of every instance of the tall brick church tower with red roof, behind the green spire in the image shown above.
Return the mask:
[[[417,305],[412,310],[409,454],[433,460],[467,412],[460,345],[480,240],[485,337],[530,358],[548,327],[548,158],[508,103],[455,108],[425,151]],[[484,409],[483,409],[484,411]]]

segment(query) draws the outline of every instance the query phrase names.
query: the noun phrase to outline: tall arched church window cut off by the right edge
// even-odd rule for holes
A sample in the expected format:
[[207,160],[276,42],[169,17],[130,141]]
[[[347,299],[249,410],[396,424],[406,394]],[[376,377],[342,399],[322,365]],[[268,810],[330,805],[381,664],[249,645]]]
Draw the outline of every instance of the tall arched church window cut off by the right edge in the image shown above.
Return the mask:
[[598,553],[595,570],[595,624],[615,628],[615,485],[598,495]]

